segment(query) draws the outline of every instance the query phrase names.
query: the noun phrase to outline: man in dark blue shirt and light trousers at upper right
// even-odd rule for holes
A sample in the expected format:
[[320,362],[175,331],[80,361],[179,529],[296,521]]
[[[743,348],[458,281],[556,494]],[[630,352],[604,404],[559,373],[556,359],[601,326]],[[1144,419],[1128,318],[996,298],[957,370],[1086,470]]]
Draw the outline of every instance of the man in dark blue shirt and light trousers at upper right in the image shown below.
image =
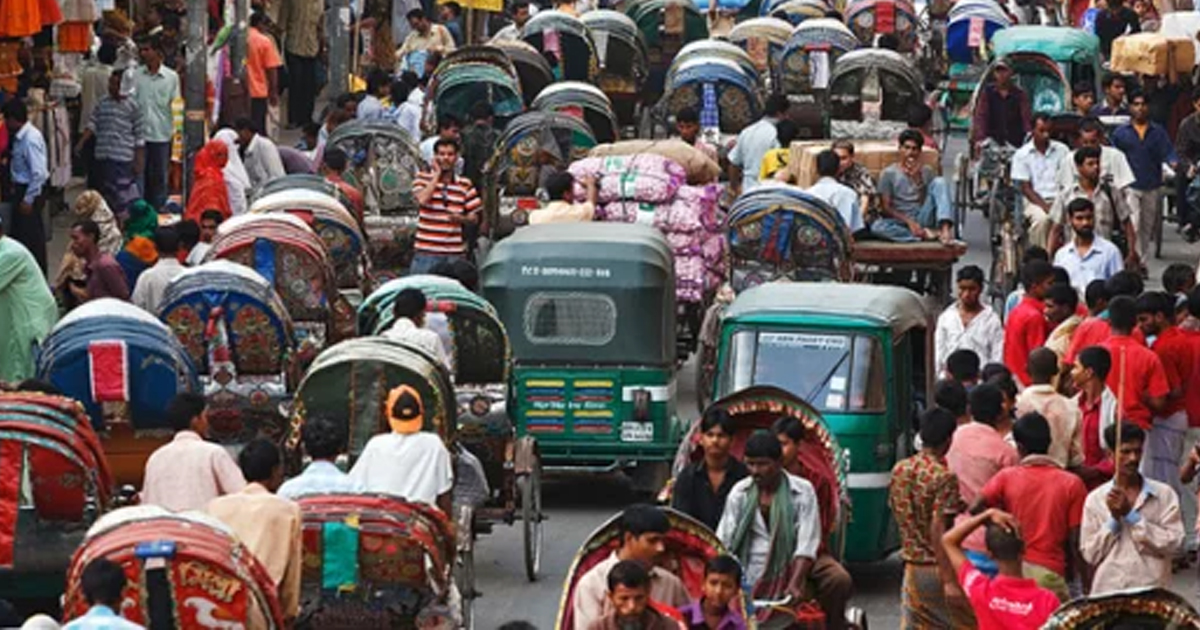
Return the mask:
[[1134,181],[1128,188],[1129,206],[1133,210],[1133,224],[1138,233],[1138,253],[1141,254],[1142,276],[1146,270],[1146,252],[1150,251],[1150,238],[1162,214],[1163,164],[1171,168],[1178,163],[1175,145],[1166,130],[1150,120],[1150,107],[1146,96],[1134,94],[1129,98],[1128,125],[1112,132],[1112,145],[1126,155]]

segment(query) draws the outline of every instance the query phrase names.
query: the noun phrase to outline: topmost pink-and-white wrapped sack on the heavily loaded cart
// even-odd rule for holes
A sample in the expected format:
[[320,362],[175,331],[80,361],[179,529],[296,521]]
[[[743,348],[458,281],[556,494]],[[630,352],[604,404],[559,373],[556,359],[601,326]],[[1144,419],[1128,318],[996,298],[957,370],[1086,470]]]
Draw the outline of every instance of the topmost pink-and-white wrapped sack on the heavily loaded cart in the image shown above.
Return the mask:
[[587,157],[572,163],[569,170],[575,176],[578,198],[586,194],[580,180],[598,179],[596,193],[601,204],[617,200],[667,203],[688,180],[678,162],[652,154]]

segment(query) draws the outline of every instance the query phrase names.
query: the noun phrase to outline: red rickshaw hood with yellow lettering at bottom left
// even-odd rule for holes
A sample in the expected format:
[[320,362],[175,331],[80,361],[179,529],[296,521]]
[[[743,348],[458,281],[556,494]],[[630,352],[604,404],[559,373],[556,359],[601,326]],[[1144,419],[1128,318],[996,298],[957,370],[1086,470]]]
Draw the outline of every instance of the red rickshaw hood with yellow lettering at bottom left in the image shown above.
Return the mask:
[[97,558],[125,570],[120,616],[145,628],[286,628],[266,568],[233,530],[203,512],[137,505],[100,517],[71,559],[62,599],[67,619],[90,607],[82,578]]

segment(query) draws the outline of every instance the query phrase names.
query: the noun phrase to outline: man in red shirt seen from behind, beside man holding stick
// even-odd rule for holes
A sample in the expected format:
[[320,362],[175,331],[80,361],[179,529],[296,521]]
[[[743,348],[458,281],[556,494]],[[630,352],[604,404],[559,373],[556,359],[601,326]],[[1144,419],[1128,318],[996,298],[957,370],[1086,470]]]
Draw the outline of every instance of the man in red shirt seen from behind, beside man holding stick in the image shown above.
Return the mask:
[[1022,415],[1013,439],[1020,466],[996,473],[983,487],[978,506],[1000,508],[1016,517],[1026,541],[1025,576],[1067,601],[1067,583],[1084,566],[1079,526],[1087,488],[1049,456],[1050,422],[1042,414]]

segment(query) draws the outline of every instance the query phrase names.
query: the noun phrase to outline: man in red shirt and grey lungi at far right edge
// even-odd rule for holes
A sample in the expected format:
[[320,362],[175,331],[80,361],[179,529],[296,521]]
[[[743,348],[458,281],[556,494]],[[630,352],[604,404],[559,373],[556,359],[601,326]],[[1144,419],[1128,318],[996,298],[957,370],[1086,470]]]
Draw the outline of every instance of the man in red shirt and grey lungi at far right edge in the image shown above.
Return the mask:
[[1136,301],[1138,328],[1153,338],[1151,347],[1163,364],[1166,374],[1166,400],[1154,414],[1154,421],[1146,436],[1146,476],[1162,481],[1182,496],[1180,461],[1183,458],[1183,442],[1188,431],[1188,414],[1184,391],[1194,385],[1196,352],[1195,342],[1175,326],[1175,298],[1164,292],[1144,293]]

